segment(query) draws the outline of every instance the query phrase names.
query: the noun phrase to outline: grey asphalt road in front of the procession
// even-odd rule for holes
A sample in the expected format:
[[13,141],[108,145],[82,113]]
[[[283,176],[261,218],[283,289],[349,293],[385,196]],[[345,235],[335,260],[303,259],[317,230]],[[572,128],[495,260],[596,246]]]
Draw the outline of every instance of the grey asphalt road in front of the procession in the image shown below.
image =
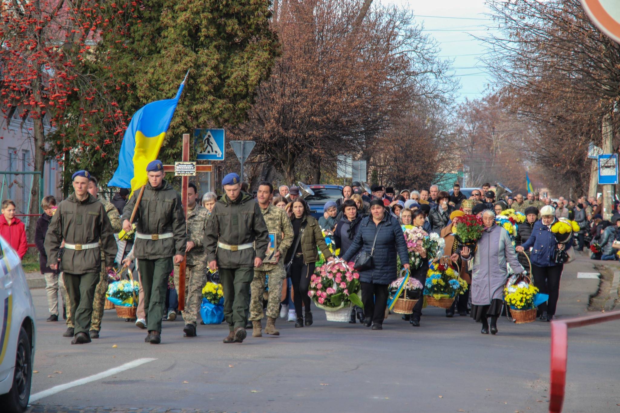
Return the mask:
[[[559,315],[586,313],[598,280],[580,259],[565,269]],[[314,325],[295,329],[278,320],[280,337],[223,344],[228,328],[198,326],[182,337],[183,322],[164,322],[162,344],[144,343],[133,323],[105,311],[101,338],[71,346],[64,323],[46,323],[45,290],[37,305],[32,394],[88,378],[139,359],[124,372],[60,389],[33,402],[33,411],[182,409],[250,412],[546,412],[549,323],[498,323],[480,334],[469,317],[423,311],[414,328],[391,315],[383,331],[332,323],[314,309]],[[620,412],[620,323],[571,330],[565,412]],[[250,331],[248,331],[250,333]],[[116,345],[117,347],[113,348]],[[59,407],[60,406],[60,407]]]

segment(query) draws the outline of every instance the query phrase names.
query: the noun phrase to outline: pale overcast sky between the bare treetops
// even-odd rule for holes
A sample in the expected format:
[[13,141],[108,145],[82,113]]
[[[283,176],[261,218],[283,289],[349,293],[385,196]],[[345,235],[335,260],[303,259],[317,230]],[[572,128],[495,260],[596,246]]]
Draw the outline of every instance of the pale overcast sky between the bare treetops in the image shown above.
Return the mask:
[[[478,61],[485,46],[471,35],[482,36],[492,21],[484,0],[380,0],[406,6],[439,43],[440,56],[454,59],[454,74],[461,82],[457,102],[481,97],[489,84],[485,67]],[[435,17],[430,17],[435,16]],[[471,33],[471,35],[469,33]]]

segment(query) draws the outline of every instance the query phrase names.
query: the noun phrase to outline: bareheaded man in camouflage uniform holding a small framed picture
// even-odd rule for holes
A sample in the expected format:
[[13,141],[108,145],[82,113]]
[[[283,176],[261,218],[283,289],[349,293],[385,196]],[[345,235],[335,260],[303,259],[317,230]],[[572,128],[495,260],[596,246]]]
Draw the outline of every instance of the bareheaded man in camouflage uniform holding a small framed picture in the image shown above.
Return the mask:
[[250,321],[252,321],[252,337],[262,337],[263,318],[263,292],[265,291],[265,276],[268,276],[269,294],[267,298],[267,326],[265,333],[279,336],[280,332],[275,328],[275,320],[280,313],[282,281],[286,278],[286,271],[281,259],[284,259],[288,248],[293,243],[293,225],[283,209],[271,204],[273,186],[268,182],[261,182],[256,193],[260,212],[267,224],[268,232],[275,232],[277,237],[277,251],[275,251],[275,263],[263,263],[254,269],[254,280],[250,285]]

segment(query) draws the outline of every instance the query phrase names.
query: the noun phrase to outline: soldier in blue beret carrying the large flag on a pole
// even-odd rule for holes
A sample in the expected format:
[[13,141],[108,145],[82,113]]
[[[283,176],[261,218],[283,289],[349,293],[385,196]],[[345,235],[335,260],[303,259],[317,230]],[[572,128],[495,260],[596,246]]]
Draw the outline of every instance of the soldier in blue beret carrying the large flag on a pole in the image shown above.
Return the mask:
[[[136,238],[133,253],[144,290],[144,313],[149,334],[144,342],[161,342],[161,319],[168,277],[172,263],[179,264],[185,256],[185,216],[177,191],[164,180],[164,165],[154,160],[146,166],[148,183],[135,215]],[[123,229],[130,232],[131,212],[136,204],[135,191],[123,209]],[[174,257],[173,257],[174,256]]]

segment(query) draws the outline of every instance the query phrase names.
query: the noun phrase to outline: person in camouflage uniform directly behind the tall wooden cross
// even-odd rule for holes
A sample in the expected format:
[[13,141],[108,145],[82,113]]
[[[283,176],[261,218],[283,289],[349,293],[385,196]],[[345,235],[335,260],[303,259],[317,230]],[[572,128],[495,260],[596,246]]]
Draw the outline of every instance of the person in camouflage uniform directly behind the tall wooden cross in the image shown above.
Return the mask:
[[[197,201],[196,185],[187,188],[187,248],[185,249],[185,310],[184,337],[196,337],[196,320],[206,283],[206,255],[203,247],[208,212]],[[174,287],[179,294],[179,266],[174,266]],[[179,295],[180,297],[180,295]]]

